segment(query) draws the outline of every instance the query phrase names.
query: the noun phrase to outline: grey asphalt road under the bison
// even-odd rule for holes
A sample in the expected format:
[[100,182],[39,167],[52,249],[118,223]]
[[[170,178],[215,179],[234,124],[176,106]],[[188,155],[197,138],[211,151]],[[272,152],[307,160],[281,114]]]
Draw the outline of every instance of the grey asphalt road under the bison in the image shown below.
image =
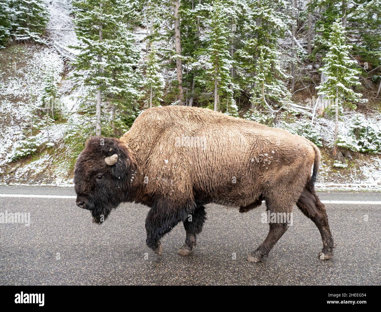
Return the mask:
[[[75,195],[71,187],[0,187],[0,194]],[[322,200],[381,201],[381,193],[331,192]],[[208,221],[191,256],[177,254],[181,224],[162,239],[163,256],[146,246],[148,208],[126,203],[101,226],[73,198],[0,197],[0,213],[30,213],[30,226],[0,224],[1,285],[380,285],[381,205],[326,204],[337,247],[317,258],[319,231],[295,207],[293,226],[259,263],[247,254],[264,240],[265,206],[240,214],[207,206]],[[367,221],[365,221],[367,220]]]

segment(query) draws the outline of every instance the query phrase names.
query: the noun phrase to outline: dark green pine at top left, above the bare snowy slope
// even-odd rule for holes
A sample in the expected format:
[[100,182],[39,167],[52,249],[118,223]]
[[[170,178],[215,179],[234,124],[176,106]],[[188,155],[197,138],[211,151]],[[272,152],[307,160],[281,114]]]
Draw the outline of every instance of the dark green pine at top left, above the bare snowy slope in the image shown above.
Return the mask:
[[49,20],[44,0],[9,0],[11,35],[14,40],[41,43],[42,29]]

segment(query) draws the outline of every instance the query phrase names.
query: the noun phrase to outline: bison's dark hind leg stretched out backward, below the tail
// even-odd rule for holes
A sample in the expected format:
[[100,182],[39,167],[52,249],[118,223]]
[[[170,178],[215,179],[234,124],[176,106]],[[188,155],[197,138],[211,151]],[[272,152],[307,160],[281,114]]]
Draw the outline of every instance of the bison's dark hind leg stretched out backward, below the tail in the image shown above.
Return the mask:
[[327,212],[325,206],[320,202],[319,197],[316,195],[315,190],[310,187],[304,187],[296,206],[310,218],[317,228],[323,240],[323,249],[319,253],[320,260],[327,260],[333,256],[333,238],[328,224]]

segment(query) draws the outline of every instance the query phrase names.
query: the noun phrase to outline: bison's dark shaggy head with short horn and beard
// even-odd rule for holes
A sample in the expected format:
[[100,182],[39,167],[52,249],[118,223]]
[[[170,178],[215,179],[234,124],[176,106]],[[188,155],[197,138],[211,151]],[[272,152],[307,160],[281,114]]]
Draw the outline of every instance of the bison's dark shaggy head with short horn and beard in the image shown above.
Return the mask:
[[77,206],[90,210],[94,223],[101,224],[125,201],[131,167],[128,150],[118,139],[93,137],[86,142],[75,163],[74,184]]

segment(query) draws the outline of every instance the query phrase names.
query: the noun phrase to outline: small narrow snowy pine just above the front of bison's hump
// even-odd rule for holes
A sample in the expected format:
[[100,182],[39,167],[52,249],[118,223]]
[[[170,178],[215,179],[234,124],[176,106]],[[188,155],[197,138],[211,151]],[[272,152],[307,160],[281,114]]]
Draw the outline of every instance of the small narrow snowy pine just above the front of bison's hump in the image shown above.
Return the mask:
[[149,93],[149,107],[152,107],[152,105],[160,105],[160,102],[163,101],[161,97],[163,96],[162,90],[165,86],[164,78],[160,73],[160,66],[154,45],[151,45],[146,64],[145,86]]

